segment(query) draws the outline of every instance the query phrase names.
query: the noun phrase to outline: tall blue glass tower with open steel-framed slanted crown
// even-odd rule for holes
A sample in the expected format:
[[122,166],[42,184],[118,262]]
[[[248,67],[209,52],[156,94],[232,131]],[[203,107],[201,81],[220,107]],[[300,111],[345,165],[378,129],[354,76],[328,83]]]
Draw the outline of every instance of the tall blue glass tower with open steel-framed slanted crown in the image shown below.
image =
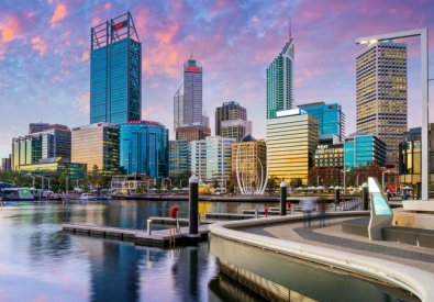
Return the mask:
[[141,121],[142,44],[130,12],[91,29],[90,123]]

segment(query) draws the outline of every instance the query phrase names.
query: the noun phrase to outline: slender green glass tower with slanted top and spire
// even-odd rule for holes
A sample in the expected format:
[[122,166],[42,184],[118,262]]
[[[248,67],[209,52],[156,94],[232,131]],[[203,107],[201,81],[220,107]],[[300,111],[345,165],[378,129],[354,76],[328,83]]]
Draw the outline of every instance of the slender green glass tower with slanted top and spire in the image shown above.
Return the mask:
[[276,119],[276,112],[293,107],[293,38],[289,37],[267,68],[267,120]]

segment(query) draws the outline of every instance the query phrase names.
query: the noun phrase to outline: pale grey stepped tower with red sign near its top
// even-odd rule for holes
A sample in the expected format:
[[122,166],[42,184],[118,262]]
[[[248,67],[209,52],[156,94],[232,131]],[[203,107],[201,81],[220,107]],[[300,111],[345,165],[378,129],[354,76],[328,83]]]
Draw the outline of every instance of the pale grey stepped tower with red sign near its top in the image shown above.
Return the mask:
[[189,58],[182,66],[181,86],[174,97],[174,130],[192,123],[209,126],[202,102],[202,65]]

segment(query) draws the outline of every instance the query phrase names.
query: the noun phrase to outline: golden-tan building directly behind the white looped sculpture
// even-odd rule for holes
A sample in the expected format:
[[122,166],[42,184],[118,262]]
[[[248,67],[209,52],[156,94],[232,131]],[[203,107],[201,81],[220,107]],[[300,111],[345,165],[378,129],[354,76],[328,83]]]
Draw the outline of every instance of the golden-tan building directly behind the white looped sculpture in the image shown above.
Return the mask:
[[241,179],[244,178],[245,189],[249,192],[258,190],[263,176],[264,178],[267,176],[267,145],[265,141],[257,141],[252,135],[247,135],[242,143],[232,144],[232,171],[236,171],[237,155],[238,176]]

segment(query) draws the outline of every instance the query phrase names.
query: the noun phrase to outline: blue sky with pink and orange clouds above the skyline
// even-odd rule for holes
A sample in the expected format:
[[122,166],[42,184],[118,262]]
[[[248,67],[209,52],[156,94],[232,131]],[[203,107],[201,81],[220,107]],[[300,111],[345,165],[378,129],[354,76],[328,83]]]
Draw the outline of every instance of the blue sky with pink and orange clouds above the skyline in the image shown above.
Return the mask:
[[[346,134],[356,131],[356,56],[366,47],[355,38],[427,27],[434,55],[434,0],[1,0],[0,158],[31,122],[89,124],[90,29],[126,11],[142,42],[142,118],[166,125],[170,138],[174,94],[191,48],[203,66],[212,134],[215,108],[236,101],[254,136],[265,137],[266,69],[288,41],[290,15],[296,105],[342,104]],[[420,40],[399,42],[408,43],[409,127],[416,127]],[[431,59],[431,78],[433,67]]]

